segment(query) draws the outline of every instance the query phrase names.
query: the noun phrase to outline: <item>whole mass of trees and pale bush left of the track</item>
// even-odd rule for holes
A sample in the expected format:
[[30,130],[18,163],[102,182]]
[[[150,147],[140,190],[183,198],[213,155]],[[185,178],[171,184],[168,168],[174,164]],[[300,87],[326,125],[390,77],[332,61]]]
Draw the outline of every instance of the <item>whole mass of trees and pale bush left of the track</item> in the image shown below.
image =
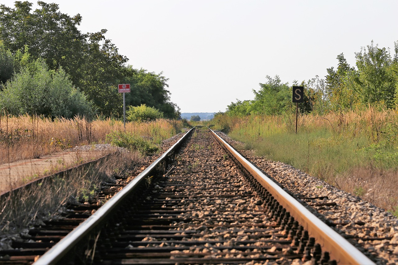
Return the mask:
[[168,78],[135,69],[105,38],[106,29],[82,34],[82,17],[70,17],[57,4],[15,2],[0,5],[0,110],[51,117],[77,114],[123,116],[118,84],[130,84],[126,105],[154,107],[166,118],[179,117],[170,101]]

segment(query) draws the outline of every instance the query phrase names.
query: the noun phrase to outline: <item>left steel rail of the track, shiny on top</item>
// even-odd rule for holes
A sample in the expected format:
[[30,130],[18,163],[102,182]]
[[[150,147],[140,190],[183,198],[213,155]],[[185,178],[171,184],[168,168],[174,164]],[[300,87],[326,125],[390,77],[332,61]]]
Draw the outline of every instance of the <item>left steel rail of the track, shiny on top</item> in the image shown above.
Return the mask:
[[192,133],[194,128],[189,130],[184,136],[182,136],[172,147],[170,147],[162,156],[156,159],[155,162],[150,164],[148,168],[142,171],[137,177],[135,177],[129,184],[127,184],[121,191],[116,193],[109,201],[104,203],[94,214],[87,218],[84,222],[79,224],[72,232],[62,238],[57,244],[55,244],[49,251],[44,253],[35,263],[37,265],[43,264],[57,264],[62,258],[90,231],[95,228],[102,220],[105,219],[106,215],[109,214],[123,199],[129,195],[137,185],[147,177],[152,170],[154,170],[171,152],[173,152],[179,145]]

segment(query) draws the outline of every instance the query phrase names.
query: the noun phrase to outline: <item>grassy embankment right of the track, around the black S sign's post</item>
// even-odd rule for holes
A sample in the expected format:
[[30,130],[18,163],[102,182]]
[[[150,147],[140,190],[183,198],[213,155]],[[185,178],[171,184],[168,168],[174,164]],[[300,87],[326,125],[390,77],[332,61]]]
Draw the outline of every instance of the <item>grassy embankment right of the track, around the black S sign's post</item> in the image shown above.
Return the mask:
[[398,215],[398,114],[351,111],[324,116],[219,116],[217,129],[258,155],[317,176]]

